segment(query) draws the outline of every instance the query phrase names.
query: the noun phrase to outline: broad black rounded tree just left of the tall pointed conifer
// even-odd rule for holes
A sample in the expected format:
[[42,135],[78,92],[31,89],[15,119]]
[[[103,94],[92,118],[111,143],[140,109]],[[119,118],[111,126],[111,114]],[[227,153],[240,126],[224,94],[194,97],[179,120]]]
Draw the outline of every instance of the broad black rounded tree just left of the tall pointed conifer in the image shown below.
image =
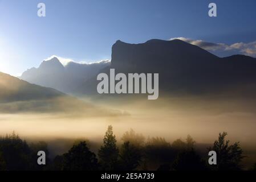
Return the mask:
[[74,145],[63,155],[63,170],[95,171],[97,167],[96,155],[89,150],[86,142]]

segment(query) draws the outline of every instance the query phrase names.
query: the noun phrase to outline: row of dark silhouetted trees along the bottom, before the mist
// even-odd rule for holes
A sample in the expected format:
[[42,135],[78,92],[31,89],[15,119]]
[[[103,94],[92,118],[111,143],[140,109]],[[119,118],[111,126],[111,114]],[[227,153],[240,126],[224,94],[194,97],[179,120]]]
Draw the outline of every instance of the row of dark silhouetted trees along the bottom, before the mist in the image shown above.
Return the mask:
[[[0,138],[0,170],[172,170],[172,171],[224,171],[242,170],[243,151],[238,142],[225,140],[227,133],[220,133],[208,151],[217,153],[217,165],[208,164],[208,152],[200,155],[190,135],[185,141],[175,140],[172,144],[164,138],[148,138],[135,131],[127,131],[117,146],[112,126],[108,126],[103,145],[97,155],[90,150],[86,141],[75,143],[63,155],[46,158],[46,165],[37,163],[37,152],[49,152],[46,142],[27,144],[15,133]],[[256,164],[251,168],[256,170]]]

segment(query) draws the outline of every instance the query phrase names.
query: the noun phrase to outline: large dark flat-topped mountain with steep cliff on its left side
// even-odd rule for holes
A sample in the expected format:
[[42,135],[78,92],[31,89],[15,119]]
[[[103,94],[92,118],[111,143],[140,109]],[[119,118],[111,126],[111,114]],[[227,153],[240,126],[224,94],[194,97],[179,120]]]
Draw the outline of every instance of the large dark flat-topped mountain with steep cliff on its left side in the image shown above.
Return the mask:
[[[244,55],[221,58],[178,39],[153,39],[141,44],[117,40],[112,46],[111,65],[101,72],[109,73],[109,68],[115,68],[116,73],[159,73],[160,90],[167,93],[228,93],[243,87],[251,92],[250,89],[255,89],[255,58]],[[77,92],[97,94],[97,82],[96,76],[92,77]]]

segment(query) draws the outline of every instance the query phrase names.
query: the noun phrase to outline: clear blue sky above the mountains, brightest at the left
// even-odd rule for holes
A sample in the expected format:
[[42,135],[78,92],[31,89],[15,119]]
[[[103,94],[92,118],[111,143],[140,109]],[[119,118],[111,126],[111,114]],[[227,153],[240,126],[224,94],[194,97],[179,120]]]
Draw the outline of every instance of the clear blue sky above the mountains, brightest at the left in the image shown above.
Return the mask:
[[[46,5],[46,17],[37,16],[39,2]],[[217,4],[215,18],[208,16],[210,2]],[[0,0],[0,71],[17,76],[52,55],[83,62],[110,59],[119,39],[189,38],[223,43],[234,53],[241,49],[230,45],[242,45],[253,56],[255,9],[255,0]]]

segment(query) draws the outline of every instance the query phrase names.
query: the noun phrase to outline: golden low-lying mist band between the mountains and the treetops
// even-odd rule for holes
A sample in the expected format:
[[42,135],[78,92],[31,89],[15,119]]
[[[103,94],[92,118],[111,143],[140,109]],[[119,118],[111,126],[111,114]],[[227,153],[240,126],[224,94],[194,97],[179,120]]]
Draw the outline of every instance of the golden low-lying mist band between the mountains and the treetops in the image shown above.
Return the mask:
[[[135,96],[136,97],[136,96]],[[87,100],[87,103],[90,101]],[[197,144],[212,144],[218,134],[226,131],[230,142],[240,142],[248,163],[256,159],[256,112],[253,100],[214,96],[164,96],[147,100],[133,96],[94,100],[95,108],[119,114],[18,113],[0,114],[0,135],[15,131],[29,142],[44,140],[51,157],[63,154],[75,140],[88,140],[97,152],[107,130],[113,126],[117,142],[130,129],[148,137],[164,137],[173,142],[189,134]],[[89,105],[90,106],[90,105]],[[80,110],[79,110],[80,111]],[[97,110],[99,111],[99,110]],[[120,114],[121,113],[121,114]]]

